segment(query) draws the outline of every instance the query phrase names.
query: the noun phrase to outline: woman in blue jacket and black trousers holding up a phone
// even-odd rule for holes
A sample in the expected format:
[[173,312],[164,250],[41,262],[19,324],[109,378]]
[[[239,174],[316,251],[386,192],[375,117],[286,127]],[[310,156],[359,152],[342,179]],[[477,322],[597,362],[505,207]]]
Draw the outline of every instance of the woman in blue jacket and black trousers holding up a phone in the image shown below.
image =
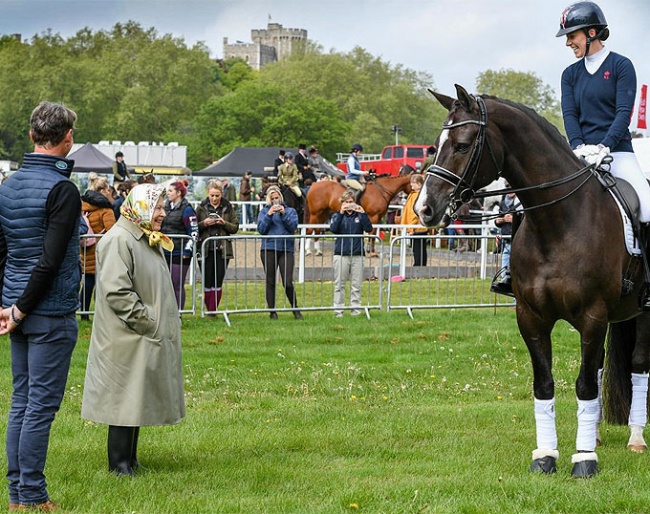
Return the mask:
[[277,236],[263,239],[260,248],[260,258],[266,274],[266,304],[271,309],[271,319],[278,319],[278,313],[274,310],[278,268],[293,315],[296,319],[302,319],[298,310],[296,290],[293,287],[293,233],[297,228],[298,213],[284,203],[278,186],[270,186],[266,192],[266,205],[262,207],[257,218],[257,230],[264,236]]

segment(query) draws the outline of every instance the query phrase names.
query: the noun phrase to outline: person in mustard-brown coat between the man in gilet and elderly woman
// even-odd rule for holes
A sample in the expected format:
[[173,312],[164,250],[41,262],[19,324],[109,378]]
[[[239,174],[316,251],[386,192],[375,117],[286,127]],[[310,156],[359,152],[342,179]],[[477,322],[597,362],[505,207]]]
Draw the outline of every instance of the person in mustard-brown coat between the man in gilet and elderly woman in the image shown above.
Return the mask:
[[[120,186],[126,184],[122,182]],[[88,176],[88,191],[81,197],[81,210],[86,215],[94,234],[104,234],[115,225],[113,213],[113,196],[108,180],[97,173]],[[83,241],[83,239],[82,239]],[[81,288],[81,308],[90,310],[93,290],[95,289],[95,250],[97,246],[81,245],[81,262],[83,271],[83,286]],[[87,320],[88,314],[82,314],[81,319]]]

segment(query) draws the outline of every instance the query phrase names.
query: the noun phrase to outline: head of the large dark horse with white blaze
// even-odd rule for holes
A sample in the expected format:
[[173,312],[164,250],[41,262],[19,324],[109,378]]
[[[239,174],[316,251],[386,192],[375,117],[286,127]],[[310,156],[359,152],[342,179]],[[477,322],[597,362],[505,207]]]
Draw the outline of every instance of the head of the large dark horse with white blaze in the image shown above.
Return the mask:
[[487,138],[487,108],[482,98],[474,97],[456,85],[458,99],[430,91],[449,110],[436,140],[436,160],[426,172],[415,210],[427,227],[446,225],[449,217],[475,190],[497,177],[489,161],[483,165]]

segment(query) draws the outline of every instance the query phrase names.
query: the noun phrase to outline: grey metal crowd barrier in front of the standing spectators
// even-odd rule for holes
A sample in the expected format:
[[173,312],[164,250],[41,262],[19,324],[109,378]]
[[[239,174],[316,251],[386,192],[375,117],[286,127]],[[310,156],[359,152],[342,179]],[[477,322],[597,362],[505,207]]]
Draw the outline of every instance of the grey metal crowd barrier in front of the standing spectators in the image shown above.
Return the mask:
[[[300,225],[299,233],[287,236],[295,242],[293,280],[298,308],[303,313],[334,310],[335,240],[337,237],[359,237],[329,232],[307,233],[316,228],[325,229],[326,225]],[[373,310],[405,310],[412,318],[417,309],[513,305],[511,298],[489,291],[491,279],[500,268],[501,256],[494,253],[496,236],[488,226],[459,225],[456,228],[462,228],[465,232],[462,235],[411,235],[407,233],[409,227],[400,225],[378,225],[377,228],[377,235],[364,236],[365,246],[369,247],[373,242],[375,248],[374,253],[367,248],[364,257],[361,310],[366,317],[370,318]],[[470,231],[474,233],[470,234]],[[170,237],[175,244],[185,245],[189,241],[188,236]],[[264,239],[274,237],[240,233],[209,238],[201,247],[195,246],[185,285],[187,300],[179,312],[222,316],[229,325],[235,314],[276,311],[281,316],[290,316],[294,308],[286,298],[279,273],[276,273],[275,307],[270,308],[267,304],[266,275],[260,247]],[[414,239],[426,240],[426,266],[413,266],[411,245]],[[225,244],[225,240],[232,244],[234,257],[227,262],[219,305],[210,308],[203,301],[203,284],[209,271],[206,269],[207,259],[203,256],[207,255],[209,245]],[[449,249],[450,242],[456,244],[455,251]],[[466,251],[457,250],[465,247]],[[212,266],[211,271],[216,274],[217,263],[213,262]],[[179,275],[173,280],[180,285],[180,278]],[[346,312],[351,309],[349,287],[349,283],[346,284]],[[82,296],[84,293],[82,290]],[[92,306],[79,310],[81,315],[92,313]]]

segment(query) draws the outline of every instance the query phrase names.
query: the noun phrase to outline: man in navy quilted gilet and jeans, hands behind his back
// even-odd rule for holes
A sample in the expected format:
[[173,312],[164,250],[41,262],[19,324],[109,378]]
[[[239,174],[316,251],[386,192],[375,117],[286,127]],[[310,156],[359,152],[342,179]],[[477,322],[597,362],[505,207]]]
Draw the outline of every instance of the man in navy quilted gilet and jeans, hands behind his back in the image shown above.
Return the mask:
[[10,334],[13,377],[9,510],[58,509],[44,469],[77,343],[81,199],[70,180],[74,163],[65,158],[76,119],[63,105],[41,102],[30,118],[34,152],[0,187],[0,335]]

